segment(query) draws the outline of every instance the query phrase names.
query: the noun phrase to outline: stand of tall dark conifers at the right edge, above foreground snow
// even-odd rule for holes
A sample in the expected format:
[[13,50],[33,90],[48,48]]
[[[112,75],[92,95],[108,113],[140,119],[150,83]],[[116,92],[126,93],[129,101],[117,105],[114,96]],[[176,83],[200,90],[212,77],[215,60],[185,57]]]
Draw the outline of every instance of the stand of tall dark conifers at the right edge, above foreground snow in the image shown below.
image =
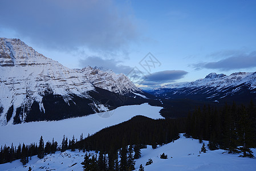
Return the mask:
[[256,148],[256,107],[253,101],[248,107],[235,103],[220,109],[198,107],[188,115],[186,136],[208,140],[211,150],[225,149],[253,157],[250,148]]

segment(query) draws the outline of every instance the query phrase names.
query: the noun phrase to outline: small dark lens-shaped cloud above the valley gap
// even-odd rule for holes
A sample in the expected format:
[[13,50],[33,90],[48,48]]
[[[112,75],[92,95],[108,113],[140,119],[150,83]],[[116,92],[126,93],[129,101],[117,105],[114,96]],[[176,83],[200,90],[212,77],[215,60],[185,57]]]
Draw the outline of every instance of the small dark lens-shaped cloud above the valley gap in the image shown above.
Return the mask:
[[188,72],[182,70],[165,70],[160,72],[154,72],[146,75],[145,82],[143,85],[155,86],[163,83],[175,82],[178,79],[183,78]]

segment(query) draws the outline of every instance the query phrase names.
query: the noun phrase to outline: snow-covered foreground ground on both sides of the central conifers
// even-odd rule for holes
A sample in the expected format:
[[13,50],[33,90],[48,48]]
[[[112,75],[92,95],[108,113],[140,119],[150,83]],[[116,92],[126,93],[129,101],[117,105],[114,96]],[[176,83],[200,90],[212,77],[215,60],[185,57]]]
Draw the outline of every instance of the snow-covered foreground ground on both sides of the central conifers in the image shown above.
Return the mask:
[[[204,141],[208,144],[208,141]],[[180,139],[152,149],[141,149],[141,158],[136,160],[135,168],[138,170],[139,165],[143,164],[146,171],[148,170],[256,170],[256,159],[238,157],[239,154],[223,153],[224,150],[208,151],[199,154],[202,144],[195,139],[186,139],[181,136]],[[253,149],[254,154],[256,150]],[[90,152],[95,153],[95,152]],[[168,159],[161,159],[160,154],[165,153]],[[222,154],[223,153],[223,154]],[[200,156],[198,156],[200,155]],[[0,165],[0,170],[82,170],[84,153],[66,152],[48,154],[39,160],[36,156],[26,166],[22,166],[19,160],[12,163]],[[149,158],[152,158],[153,164],[145,166]]]

